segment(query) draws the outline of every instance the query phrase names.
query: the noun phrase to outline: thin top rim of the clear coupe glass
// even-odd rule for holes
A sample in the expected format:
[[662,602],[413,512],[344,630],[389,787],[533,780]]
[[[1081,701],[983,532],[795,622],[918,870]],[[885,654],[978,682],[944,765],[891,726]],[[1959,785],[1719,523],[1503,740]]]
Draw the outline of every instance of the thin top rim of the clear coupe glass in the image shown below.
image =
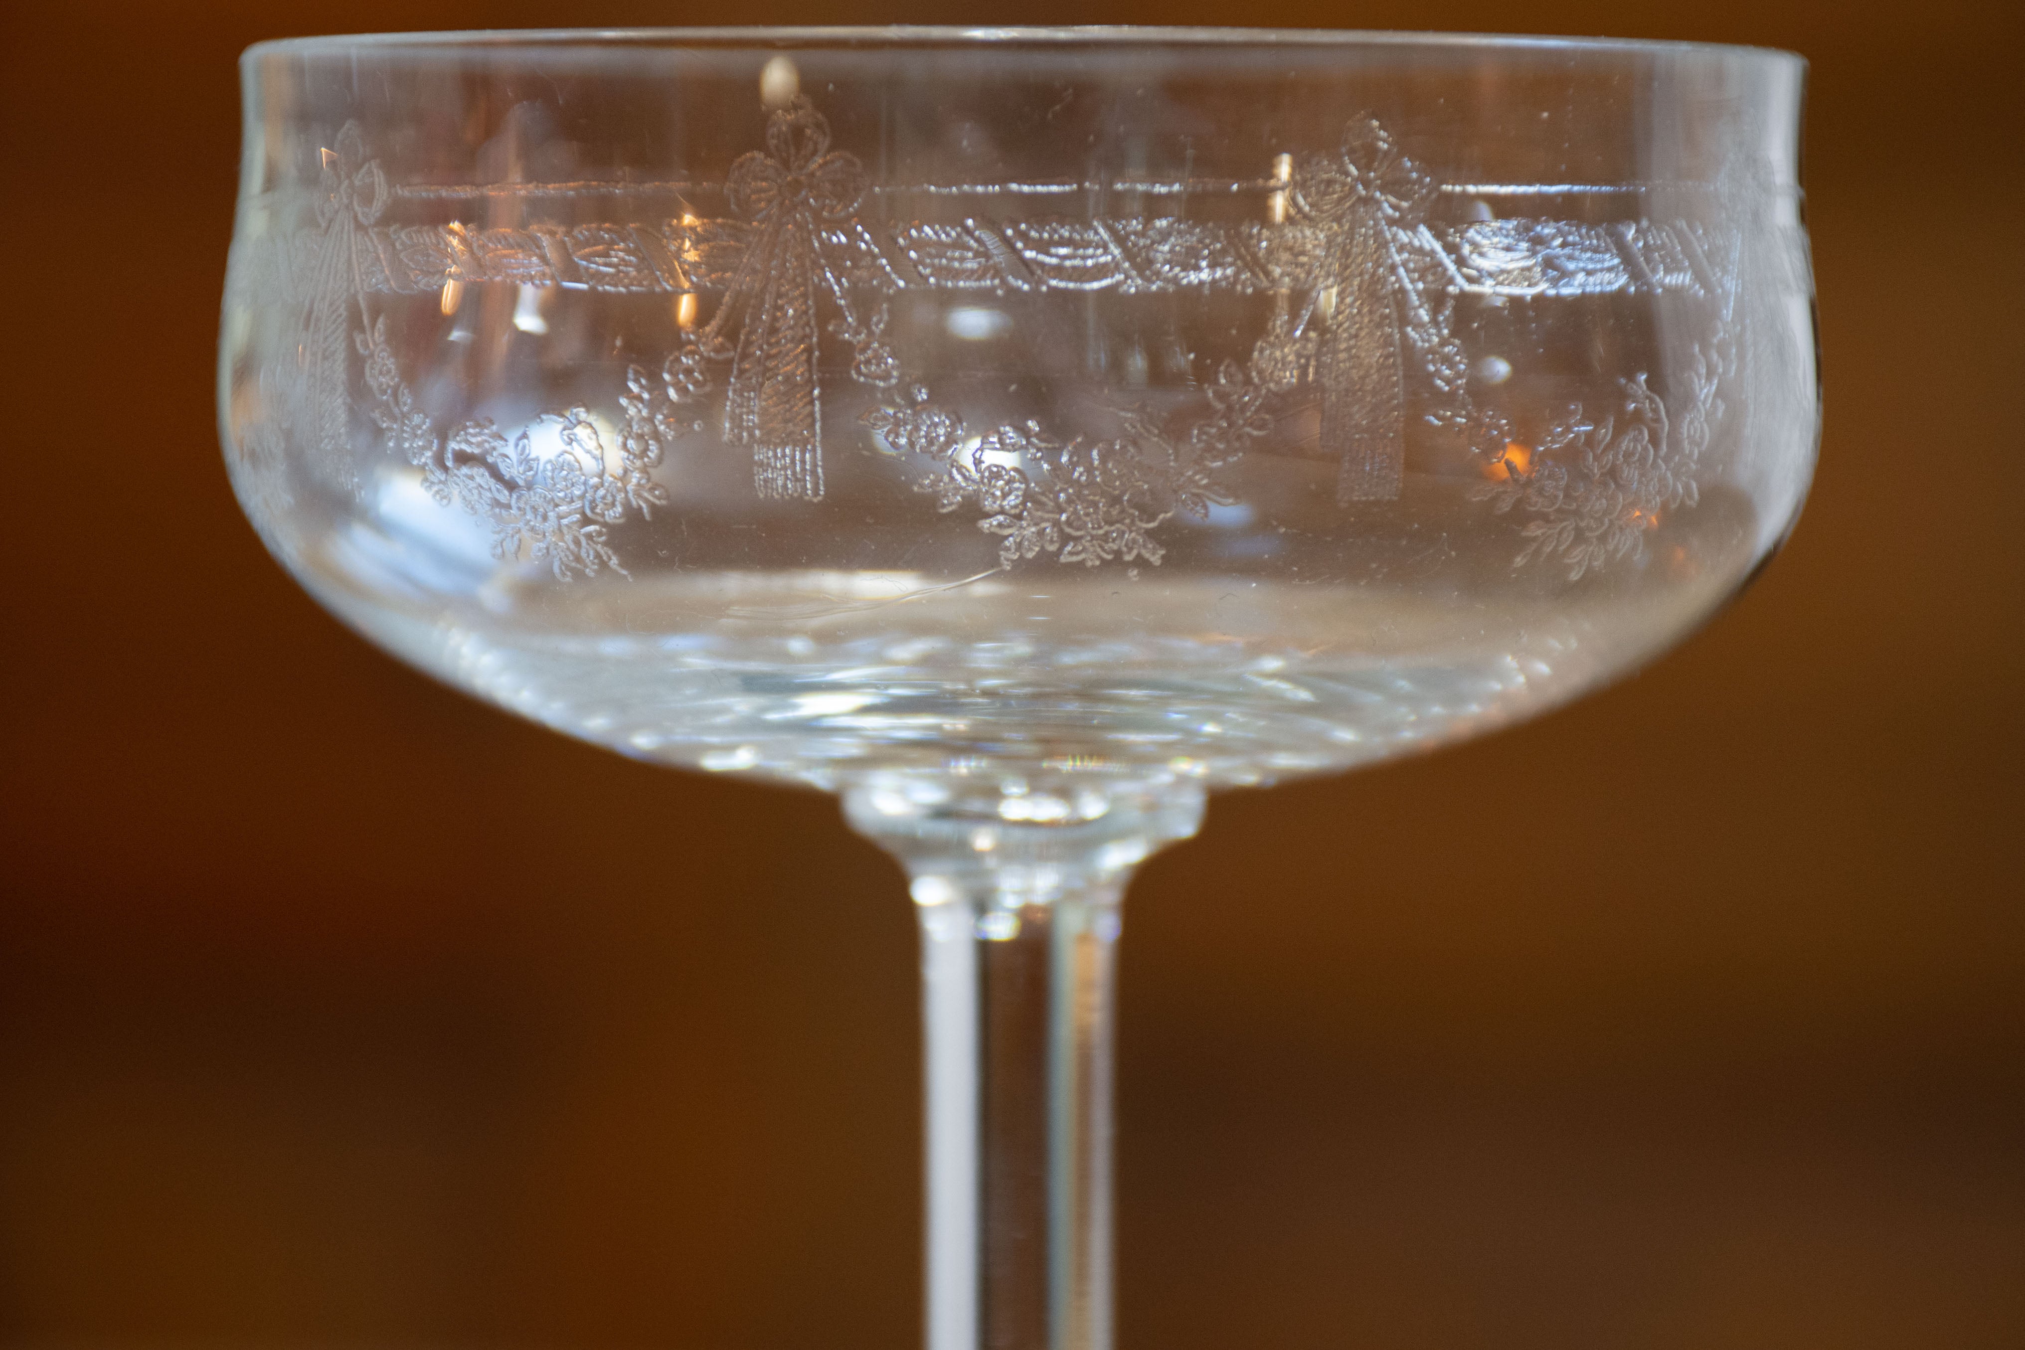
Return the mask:
[[1478,49],[1486,53],[1594,51],[1644,55],[1705,55],[1758,57],[1778,65],[1806,65],[1806,57],[1778,47],[1742,43],[1695,43],[1683,38],[1612,38],[1555,36],[1531,32],[1432,32],[1391,28],[1219,28],[1160,24],[1055,24],[1055,26],[972,26],[972,24],[804,24],[804,26],[707,26],[707,28],[466,28],[423,32],[352,32],[328,36],[269,38],[247,47],[241,61],[261,57],[342,53],[356,49],[381,51],[595,51],[595,49],[668,49],[668,51],[784,51],[784,49],[857,49],[905,51],[911,47],[976,47],[1033,45],[1096,49],[1154,47],[1302,47],[1302,49]]

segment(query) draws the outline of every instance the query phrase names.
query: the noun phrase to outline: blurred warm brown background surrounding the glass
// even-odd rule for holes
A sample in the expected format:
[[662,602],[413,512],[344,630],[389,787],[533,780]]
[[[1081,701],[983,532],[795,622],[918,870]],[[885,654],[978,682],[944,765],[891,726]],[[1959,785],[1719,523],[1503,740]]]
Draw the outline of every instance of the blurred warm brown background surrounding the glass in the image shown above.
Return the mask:
[[1124,1348],[2025,1344],[2011,0],[8,4],[0,1342],[915,1340],[895,868],[350,638],[211,411],[245,43],[897,16],[1816,63],[1798,536],[1640,678],[1146,868]]

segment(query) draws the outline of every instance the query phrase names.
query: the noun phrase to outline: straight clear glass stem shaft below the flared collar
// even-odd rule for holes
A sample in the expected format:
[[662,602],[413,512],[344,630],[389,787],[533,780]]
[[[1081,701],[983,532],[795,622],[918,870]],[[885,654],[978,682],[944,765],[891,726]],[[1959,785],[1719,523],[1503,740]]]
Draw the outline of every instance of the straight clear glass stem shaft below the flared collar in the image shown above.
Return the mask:
[[929,1350],[1110,1346],[1118,897],[919,907]]

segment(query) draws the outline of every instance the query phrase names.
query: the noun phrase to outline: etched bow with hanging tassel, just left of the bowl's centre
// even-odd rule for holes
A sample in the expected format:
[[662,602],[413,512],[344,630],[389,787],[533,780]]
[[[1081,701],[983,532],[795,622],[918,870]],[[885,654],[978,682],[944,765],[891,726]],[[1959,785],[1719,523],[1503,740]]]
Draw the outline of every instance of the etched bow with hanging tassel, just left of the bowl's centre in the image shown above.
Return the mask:
[[[751,447],[759,496],[818,500],[818,283],[844,298],[816,251],[816,231],[857,208],[867,176],[855,154],[830,150],[830,123],[806,97],[774,111],[765,144],[765,152],[741,156],[725,182],[731,208],[757,229],[699,346],[731,360],[725,439]],[[733,324],[735,346],[727,338]]]

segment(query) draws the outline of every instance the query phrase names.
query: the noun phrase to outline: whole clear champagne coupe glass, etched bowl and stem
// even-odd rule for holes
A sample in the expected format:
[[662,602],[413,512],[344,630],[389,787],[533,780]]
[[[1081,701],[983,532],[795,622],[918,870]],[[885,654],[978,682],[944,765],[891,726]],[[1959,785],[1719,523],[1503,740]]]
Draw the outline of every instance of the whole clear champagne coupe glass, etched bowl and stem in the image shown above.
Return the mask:
[[1675,642],[1812,470],[1802,63],[666,30],[251,49],[219,399],[310,593],[911,874],[929,1350],[1104,1350],[1112,953],[1217,787]]

